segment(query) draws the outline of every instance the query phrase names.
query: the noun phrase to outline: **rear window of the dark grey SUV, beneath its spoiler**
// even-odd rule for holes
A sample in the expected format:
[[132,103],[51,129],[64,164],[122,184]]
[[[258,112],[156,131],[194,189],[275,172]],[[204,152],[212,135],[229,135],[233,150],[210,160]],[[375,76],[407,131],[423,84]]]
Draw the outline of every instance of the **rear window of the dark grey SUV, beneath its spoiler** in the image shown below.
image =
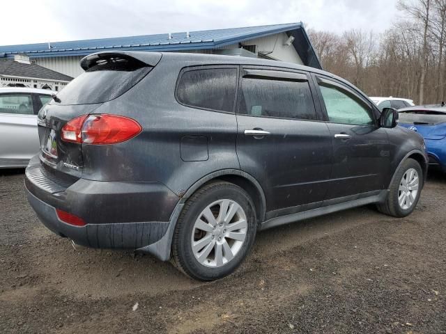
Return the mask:
[[59,103],[93,104],[113,100],[136,85],[152,68],[134,58],[98,59],[57,94]]

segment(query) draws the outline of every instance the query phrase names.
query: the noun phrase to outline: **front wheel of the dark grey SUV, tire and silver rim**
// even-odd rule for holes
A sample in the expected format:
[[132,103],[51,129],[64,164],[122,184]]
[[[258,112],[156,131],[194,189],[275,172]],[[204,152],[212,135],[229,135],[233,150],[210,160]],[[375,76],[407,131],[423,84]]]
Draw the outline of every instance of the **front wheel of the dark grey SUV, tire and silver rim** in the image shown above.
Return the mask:
[[[415,170],[417,175],[417,192],[415,195],[413,195],[413,189],[415,189],[415,186],[410,186],[410,184],[403,184],[404,182],[403,177],[405,177],[405,179],[406,177],[409,177],[410,172],[413,170]],[[417,206],[417,202],[420,199],[420,194],[423,188],[423,181],[424,181],[423,171],[418,161],[410,158],[406,159],[405,161],[403,161],[403,164],[401,164],[401,166],[399,166],[398,170],[395,172],[392,184],[390,184],[390,189],[387,198],[385,202],[377,205],[378,210],[383,214],[387,214],[389,216],[394,216],[397,218],[408,216],[413,212],[413,210]],[[408,183],[410,183],[410,180]],[[402,190],[400,190],[400,186],[402,187],[401,188]],[[405,186],[406,188],[404,188]],[[411,203],[403,202],[403,205],[401,205],[400,199],[401,200],[404,199],[404,196],[401,195],[401,193],[405,192],[404,191],[405,189],[407,190],[406,193],[407,192],[411,193],[410,197],[406,196],[406,198],[409,198],[409,201],[412,202]]]

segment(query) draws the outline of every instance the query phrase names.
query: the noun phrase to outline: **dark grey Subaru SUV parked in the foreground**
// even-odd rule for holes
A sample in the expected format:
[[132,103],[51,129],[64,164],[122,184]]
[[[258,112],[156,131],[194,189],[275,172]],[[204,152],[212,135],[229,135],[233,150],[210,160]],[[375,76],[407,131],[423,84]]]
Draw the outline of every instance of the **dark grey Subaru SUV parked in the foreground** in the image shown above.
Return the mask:
[[376,203],[410,214],[422,138],[345,80],[233,56],[101,52],[38,114],[26,189],[76,244],[130,248],[215,280],[257,230]]

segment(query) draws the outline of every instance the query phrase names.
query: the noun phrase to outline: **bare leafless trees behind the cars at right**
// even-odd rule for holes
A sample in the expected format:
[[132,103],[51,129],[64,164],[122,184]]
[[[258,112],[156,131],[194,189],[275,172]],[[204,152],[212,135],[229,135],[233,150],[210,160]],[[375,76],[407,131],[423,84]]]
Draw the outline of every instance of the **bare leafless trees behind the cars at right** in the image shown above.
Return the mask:
[[400,0],[397,8],[404,18],[385,33],[309,29],[323,68],[369,96],[445,101],[446,0]]

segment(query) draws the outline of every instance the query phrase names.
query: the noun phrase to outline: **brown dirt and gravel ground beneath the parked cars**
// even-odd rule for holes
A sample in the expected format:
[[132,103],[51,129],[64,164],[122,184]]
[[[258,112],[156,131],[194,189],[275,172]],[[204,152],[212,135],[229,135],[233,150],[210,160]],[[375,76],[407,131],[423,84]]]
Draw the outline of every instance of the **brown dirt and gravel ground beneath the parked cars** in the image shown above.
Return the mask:
[[213,283],[75,250],[39,223],[23,178],[0,170],[0,333],[446,333],[445,175],[407,218],[360,207],[261,232]]

